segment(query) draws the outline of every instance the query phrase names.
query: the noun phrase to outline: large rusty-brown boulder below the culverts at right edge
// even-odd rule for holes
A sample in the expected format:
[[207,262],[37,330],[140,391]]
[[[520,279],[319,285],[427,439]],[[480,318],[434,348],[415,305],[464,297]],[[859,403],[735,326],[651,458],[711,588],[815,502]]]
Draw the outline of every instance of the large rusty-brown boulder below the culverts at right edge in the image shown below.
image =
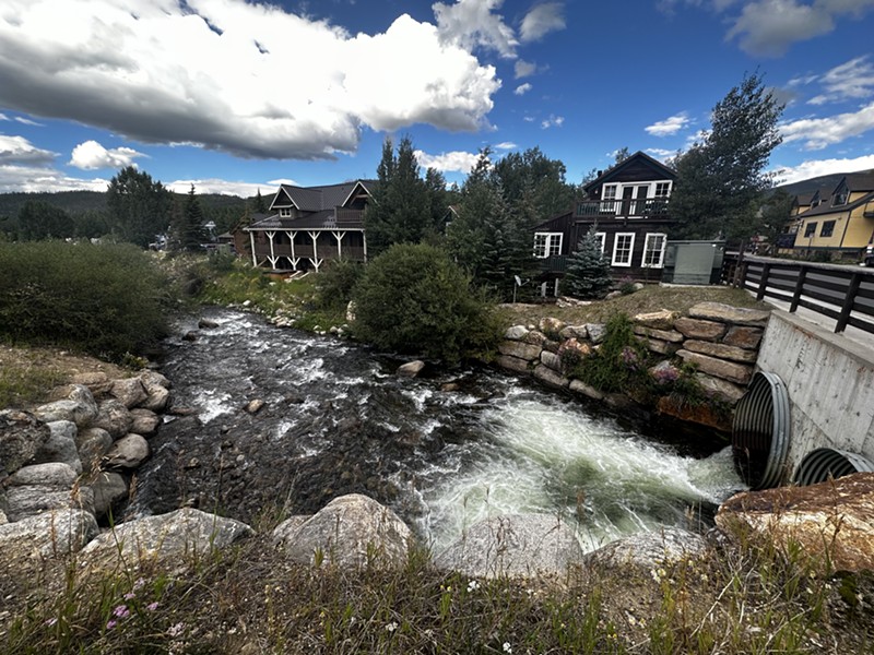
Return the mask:
[[772,540],[835,571],[874,570],[874,473],[857,473],[810,487],[746,491],[722,503],[716,516],[739,539]]

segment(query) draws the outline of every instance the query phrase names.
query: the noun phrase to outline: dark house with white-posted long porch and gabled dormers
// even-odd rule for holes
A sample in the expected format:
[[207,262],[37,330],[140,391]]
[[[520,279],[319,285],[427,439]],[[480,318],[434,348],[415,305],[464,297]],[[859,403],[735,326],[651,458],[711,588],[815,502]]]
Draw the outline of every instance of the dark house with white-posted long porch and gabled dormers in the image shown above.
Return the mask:
[[282,184],[267,217],[244,228],[252,264],[272,271],[318,272],[328,260],[366,261],[364,212],[375,183]]

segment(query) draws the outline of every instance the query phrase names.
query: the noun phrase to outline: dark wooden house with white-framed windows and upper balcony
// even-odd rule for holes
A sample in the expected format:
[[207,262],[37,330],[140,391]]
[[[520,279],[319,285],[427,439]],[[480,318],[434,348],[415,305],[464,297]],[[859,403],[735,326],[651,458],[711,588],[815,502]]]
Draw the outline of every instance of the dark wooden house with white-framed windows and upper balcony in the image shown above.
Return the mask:
[[673,169],[637,152],[586,184],[570,212],[538,225],[534,254],[544,260],[544,295],[560,294],[568,255],[591,229],[616,279],[660,279],[675,181]]

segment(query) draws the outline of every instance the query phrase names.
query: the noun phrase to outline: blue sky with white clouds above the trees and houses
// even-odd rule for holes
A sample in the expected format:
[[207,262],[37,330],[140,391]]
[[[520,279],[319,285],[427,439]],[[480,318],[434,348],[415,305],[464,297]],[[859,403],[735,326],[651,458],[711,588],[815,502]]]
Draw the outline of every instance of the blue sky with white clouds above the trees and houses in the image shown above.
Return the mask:
[[269,194],[375,177],[387,135],[461,182],[539,146],[579,182],[664,158],[758,71],[787,103],[770,167],[874,168],[874,0],[3,0],[0,192]]

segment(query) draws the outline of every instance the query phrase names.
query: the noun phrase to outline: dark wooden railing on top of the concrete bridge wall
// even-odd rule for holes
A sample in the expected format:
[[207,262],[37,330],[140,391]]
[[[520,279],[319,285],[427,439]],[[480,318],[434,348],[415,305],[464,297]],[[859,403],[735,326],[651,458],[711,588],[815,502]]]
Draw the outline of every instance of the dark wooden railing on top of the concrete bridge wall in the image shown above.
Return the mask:
[[747,289],[757,300],[773,298],[789,311],[804,307],[836,321],[835,332],[848,325],[874,334],[874,269],[727,253],[723,282]]

